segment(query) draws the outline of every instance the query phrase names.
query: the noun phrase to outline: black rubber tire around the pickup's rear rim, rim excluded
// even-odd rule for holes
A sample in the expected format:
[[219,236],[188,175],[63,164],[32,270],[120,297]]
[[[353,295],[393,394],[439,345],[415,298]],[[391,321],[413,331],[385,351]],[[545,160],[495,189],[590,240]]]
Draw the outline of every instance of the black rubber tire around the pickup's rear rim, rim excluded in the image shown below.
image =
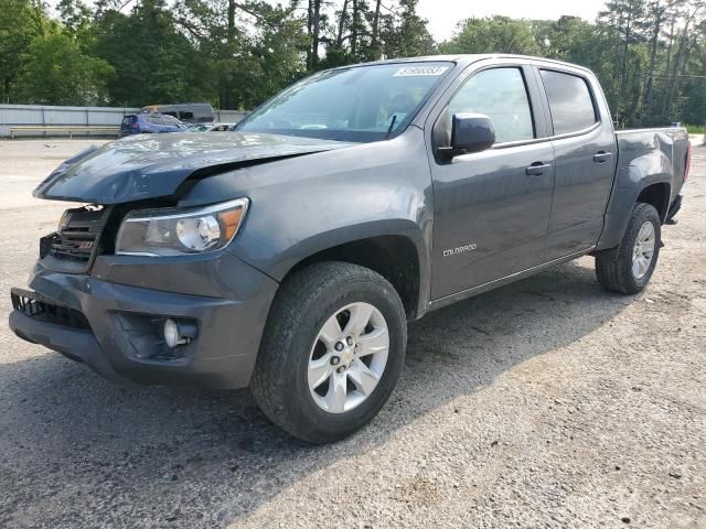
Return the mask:
[[[632,257],[635,240],[640,228],[644,223],[651,223],[654,227],[655,245],[652,261],[648,271],[641,278],[637,278],[632,271]],[[637,294],[650,282],[654,267],[660,257],[662,246],[662,231],[660,214],[650,204],[635,204],[630,214],[628,227],[622,236],[620,246],[612,250],[601,251],[596,255],[596,276],[598,282],[607,290],[622,294]]]

